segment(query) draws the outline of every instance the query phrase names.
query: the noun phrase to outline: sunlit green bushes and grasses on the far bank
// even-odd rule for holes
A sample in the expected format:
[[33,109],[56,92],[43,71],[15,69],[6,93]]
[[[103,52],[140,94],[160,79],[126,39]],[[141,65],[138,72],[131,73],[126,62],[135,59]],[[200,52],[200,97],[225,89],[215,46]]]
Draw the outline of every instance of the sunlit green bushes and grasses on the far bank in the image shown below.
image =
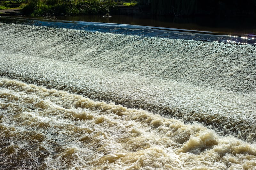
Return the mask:
[[29,0],[22,11],[32,16],[106,15],[117,13],[117,5],[110,0]]

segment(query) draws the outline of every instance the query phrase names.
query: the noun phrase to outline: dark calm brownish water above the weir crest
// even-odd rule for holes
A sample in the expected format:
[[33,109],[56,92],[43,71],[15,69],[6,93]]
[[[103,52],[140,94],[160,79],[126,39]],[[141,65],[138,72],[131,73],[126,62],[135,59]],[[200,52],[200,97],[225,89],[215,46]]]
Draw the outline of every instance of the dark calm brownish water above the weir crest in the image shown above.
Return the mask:
[[58,19],[73,21],[105,22],[130,24],[140,26],[156,26],[166,28],[189,29],[198,31],[210,31],[242,36],[244,34],[256,34],[255,18],[211,18],[211,17],[166,17],[166,16],[128,16],[113,15],[104,16],[59,16]]

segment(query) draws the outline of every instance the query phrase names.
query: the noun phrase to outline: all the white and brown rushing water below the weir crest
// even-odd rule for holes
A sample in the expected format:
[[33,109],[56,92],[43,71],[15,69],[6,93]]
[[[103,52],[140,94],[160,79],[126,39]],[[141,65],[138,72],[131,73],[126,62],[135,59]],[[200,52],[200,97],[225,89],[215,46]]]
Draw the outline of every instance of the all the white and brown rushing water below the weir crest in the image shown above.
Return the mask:
[[0,23],[0,57],[1,168],[255,169],[253,45]]

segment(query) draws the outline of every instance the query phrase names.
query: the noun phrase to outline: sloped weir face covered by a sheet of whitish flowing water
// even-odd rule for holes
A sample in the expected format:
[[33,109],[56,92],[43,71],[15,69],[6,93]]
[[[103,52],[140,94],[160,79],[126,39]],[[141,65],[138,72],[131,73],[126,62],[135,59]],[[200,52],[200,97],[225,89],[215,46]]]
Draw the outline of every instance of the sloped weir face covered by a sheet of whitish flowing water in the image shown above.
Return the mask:
[[255,140],[255,46],[1,23],[1,76]]

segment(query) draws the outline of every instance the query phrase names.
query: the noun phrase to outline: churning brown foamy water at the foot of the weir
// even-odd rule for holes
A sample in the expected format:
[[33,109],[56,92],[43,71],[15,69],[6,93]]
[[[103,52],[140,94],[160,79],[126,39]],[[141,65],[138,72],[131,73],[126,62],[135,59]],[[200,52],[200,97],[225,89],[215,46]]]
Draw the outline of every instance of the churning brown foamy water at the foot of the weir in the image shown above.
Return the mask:
[[0,167],[253,169],[256,147],[141,109],[0,78]]

